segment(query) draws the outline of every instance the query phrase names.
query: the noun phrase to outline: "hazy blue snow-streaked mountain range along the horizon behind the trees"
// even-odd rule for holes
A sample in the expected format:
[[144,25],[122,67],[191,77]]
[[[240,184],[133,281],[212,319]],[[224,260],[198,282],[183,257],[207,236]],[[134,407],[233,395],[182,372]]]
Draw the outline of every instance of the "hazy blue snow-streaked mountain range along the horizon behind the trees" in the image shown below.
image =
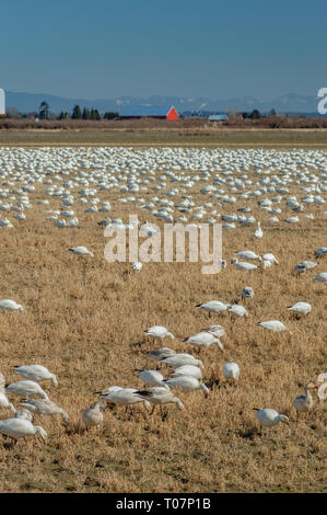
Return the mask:
[[119,96],[117,99],[65,99],[62,96],[50,95],[46,93],[14,93],[12,91],[5,92],[5,105],[8,107],[16,107],[22,113],[38,111],[39,104],[46,101],[51,113],[59,114],[61,111],[71,112],[75,104],[81,108],[94,107],[101,113],[106,111],[116,111],[120,115],[155,115],[165,114],[166,108],[172,105],[179,113],[191,112],[220,112],[226,113],[232,108],[238,111],[250,112],[254,108],[259,110],[261,113],[268,113],[275,108],[279,113],[313,113],[317,114],[318,100],[316,96],[301,96],[296,93],[289,93],[284,96],[279,96],[269,102],[264,102],[250,96],[226,99],[226,100],[210,100],[206,98],[190,99],[180,96],[163,96],[154,95],[147,99],[139,99],[135,96]]

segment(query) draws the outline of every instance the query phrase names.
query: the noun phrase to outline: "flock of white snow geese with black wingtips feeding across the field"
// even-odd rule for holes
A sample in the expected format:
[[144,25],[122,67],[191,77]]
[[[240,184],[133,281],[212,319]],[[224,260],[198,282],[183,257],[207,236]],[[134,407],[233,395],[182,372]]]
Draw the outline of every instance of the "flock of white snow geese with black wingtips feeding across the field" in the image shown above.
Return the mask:
[[[248,173],[254,173],[249,179]],[[296,215],[285,218],[287,224],[301,224],[299,215],[306,219],[315,219],[317,206],[325,203],[324,194],[327,192],[327,154],[322,151],[276,151],[276,150],[226,150],[206,148],[162,148],[162,149],[132,149],[132,148],[2,148],[0,149],[0,210],[13,213],[13,219],[0,219],[0,229],[12,229],[16,222],[23,224],[27,218],[26,211],[33,207],[31,194],[36,187],[44,186],[44,195],[62,203],[60,209],[47,209],[45,220],[54,222],[58,228],[75,228],[79,218],[75,216],[75,203],[85,206],[84,213],[92,216],[94,213],[107,213],[113,209],[109,201],[101,201],[98,192],[112,191],[127,194],[116,198],[116,203],[133,205],[135,208],[147,210],[149,217],[157,217],[168,222],[206,222],[222,221],[223,229],[256,225],[253,232],[256,239],[264,238],[261,221],[257,221],[250,213],[248,205],[237,209],[235,214],[221,214],[225,205],[259,198],[257,203],[264,214],[265,224],[280,224],[278,218],[282,213],[279,205],[284,202],[287,208]],[[205,183],[205,184],[202,184]],[[301,198],[289,195],[289,187],[296,185],[303,193]],[[208,202],[197,205],[190,188],[199,186],[199,193],[208,196]],[[142,195],[151,195],[145,198]],[[174,203],[174,196],[182,199]],[[112,201],[113,202],[113,201]],[[48,198],[37,201],[39,206],[49,208]],[[307,206],[315,206],[315,215],[305,213]],[[326,217],[327,211],[318,211],[318,216]],[[116,230],[129,228],[120,218],[104,218],[98,221],[100,227],[112,226]],[[156,230],[154,225],[147,222],[140,228],[145,234]],[[255,241],[255,240],[253,240]],[[94,258],[85,247],[72,247],[70,252],[80,259]],[[327,255],[327,248],[315,250],[317,261],[303,261],[294,272],[306,273],[318,266],[318,261]],[[245,261],[238,261],[245,260]],[[254,262],[257,261],[258,264]],[[258,267],[267,268],[279,265],[272,253],[259,255],[252,250],[235,252],[231,259],[235,270],[252,272]],[[222,266],[227,266],[222,261]],[[135,262],[131,268],[142,271],[142,263]],[[312,278],[313,283],[322,282],[327,285],[327,272],[319,272]],[[254,299],[255,293],[250,286],[242,290],[242,300]],[[227,305],[220,300],[210,300],[199,304],[196,308],[206,311],[209,317],[229,311],[235,317],[247,317],[244,306]],[[21,311],[24,307],[11,299],[0,300],[0,310]],[[297,317],[306,316],[312,311],[308,302],[299,301],[287,308]],[[279,320],[258,322],[266,331],[280,332],[288,328]],[[153,342],[164,339],[175,340],[175,336],[164,327],[155,325],[144,332],[145,337]],[[220,339],[225,335],[224,328],[215,324],[201,332],[186,337],[184,341],[200,352],[201,347],[217,345],[223,350]],[[135,370],[143,381],[143,389],[121,388],[110,386],[95,392],[98,399],[94,404],[83,411],[82,421],[85,426],[92,427],[103,423],[103,412],[106,407],[122,404],[128,409],[136,403],[143,403],[151,414],[155,407],[176,404],[183,410],[182,400],[174,393],[175,390],[184,392],[201,390],[207,397],[209,388],[202,382],[203,363],[187,353],[177,353],[170,347],[152,350],[149,356],[170,367],[167,379],[159,370]],[[46,431],[33,424],[33,416],[60,414],[62,421],[69,421],[67,412],[49,399],[48,393],[39,386],[40,381],[50,381],[58,386],[57,377],[42,365],[23,365],[14,368],[14,374],[24,380],[10,385],[0,374],[0,409],[11,410],[12,417],[0,421],[0,433],[16,442],[25,436],[38,434],[46,439]],[[235,385],[240,378],[237,363],[225,363],[223,375],[226,380]],[[314,381],[305,386],[305,394],[293,401],[296,413],[307,412],[313,407],[310,390],[317,388]],[[8,396],[22,399],[15,408]],[[33,398],[34,397],[34,398]],[[37,397],[37,398],[35,398]],[[279,422],[288,423],[288,416],[273,409],[255,408],[256,416],[261,426],[275,426]]]

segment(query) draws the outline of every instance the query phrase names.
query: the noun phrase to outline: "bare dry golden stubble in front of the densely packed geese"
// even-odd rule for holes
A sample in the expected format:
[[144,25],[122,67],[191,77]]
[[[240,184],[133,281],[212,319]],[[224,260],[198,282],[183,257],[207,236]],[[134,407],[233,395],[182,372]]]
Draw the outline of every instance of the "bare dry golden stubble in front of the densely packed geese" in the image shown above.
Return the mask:
[[[318,214],[324,206],[305,209],[314,220],[300,214],[301,224],[273,226],[265,222],[269,215],[255,199],[224,204],[218,208],[224,214],[250,205],[264,229],[261,240],[252,237],[255,226],[223,231],[226,270],[205,276],[201,263],[145,263],[141,273],[131,273],[129,263],[104,259],[107,240],[96,222],[106,214],[84,214],[85,205],[75,203],[80,226],[56,228],[45,220],[48,207],[36,204],[45,198],[45,187],[31,193],[33,208],[26,210],[26,220],[13,220],[14,228],[0,233],[0,298],[24,307],[22,312],[0,312],[0,370],[13,382],[21,379],[13,374],[14,365],[48,367],[59,387],[43,386],[70,422],[65,426],[60,416],[36,415],[34,422],[48,432],[46,444],[30,438],[11,449],[1,436],[1,492],[324,491],[326,408],[314,393],[313,412],[295,422],[292,407],[304,385],[326,370],[326,286],[312,283],[327,270],[326,258],[300,277],[293,273],[297,263],[314,260],[314,250],[326,244],[326,218]],[[197,204],[208,202],[199,190],[197,185],[189,193]],[[291,187],[294,193],[299,191]],[[128,221],[130,213],[141,222],[162,224],[132,205],[114,202],[120,196],[117,191],[97,196],[112,202],[112,218]],[[49,208],[60,205],[52,198]],[[291,213],[282,207],[281,220]],[[77,245],[87,247],[94,259],[68,251]],[[230,259],[245,249],[272,252],[280,265],[236,271]],[[195,308],[211,299],[241,300],[244,286],[255,290],[254,300],[244,302],[247,319],[227,313],[209,319]],[[285,308],[300,300],[312,304],[313,311],[296,320]],[[292,334],[277,336],[257,325],[272,319],[283,321]],[[198,352],[183,343],[212,323],[226,330],[223,353],[213,345]],[[154,324],[167,327],[176,340],[153,344],[143,331]],[[157,368],[167,377],[168,368],[148,357],[151,348],[163,345],[203,360],[209,397],[201,391],[178,393],[185,410],[170,404],[163,416],[150,416],[141,404],[132,415],[116,407],[105,412],[98,432],[85,432],[81,412],[96,400],[96,390],[110,385],[141,388],[136,368]],[[222,376],[222,365],[231,360],[241,367],[237,387]],[[17,398],[10,397],[16,405]],[[290,416],[291,424],[279,424],[271,435],[260,437],[254,407],[273,408]],[[9,415],[1,411],[1,419]]]

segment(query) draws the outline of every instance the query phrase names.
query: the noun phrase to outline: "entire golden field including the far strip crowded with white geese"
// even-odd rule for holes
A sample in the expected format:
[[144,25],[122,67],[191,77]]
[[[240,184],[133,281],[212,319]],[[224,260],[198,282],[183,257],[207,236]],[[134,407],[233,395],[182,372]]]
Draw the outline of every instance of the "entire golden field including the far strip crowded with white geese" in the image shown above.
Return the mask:
[[[293,407],[305,385],[318,386],[327,371],[327,287],[313,281],[327,273],[327,255],[315,253],[327,245],[327,152],[318,149],[325,134],[313,140],[315,150],[293,140],[292,148],[276,140],[270,149],[249,148],[250,139],[227,149],[203,137],[198,146],[189,137],[187,147],[165,139],[161,147],[155,139],[152,147],[143,139],[92,147],[59,134],[57,145],[40,139],[33,148],[1,139],[0,300],[23,309],[0,309],[0,373],[13,384],[24,380],[15,366],[47,367],[58,387],[40,386],[69,420],[34,414],[45,440],[35,435],[13,445],[0,435],[0,491],[326,491],[326,401],[312,389],[310,412],[296,415]],[[144,262],[140,272],[128,260],[108,262],[105,230],[114,224],[128,233],[130,215],[157,231],[176,221],[222,224],[226,266],[205,275],[202,262],[187,259]],[[69,251],[81,245],[93,255]],[[257,266],[240,270],[231,260],[245,250],[272,253],[278,263],[238,258]],[[304,261],[316,265],[296,272]],[[244,287],[253,298],[242,299]],[[209,317],[196,306],[210,300],[242,305],[248,314],[225,309]],[[311,312],[288,310],[300,301]],[[258,325],[276,320],[287,329]],[[184,341],[212,324],[224,328],[223,348]],[[147,336],[154,325],[174,339]],[[142,402],[132,409],[108,402],[100,427],[86,428],[82,413],[100,400],[95,392],[142,391],[149,385],[139,370],[172,377],[172,367],[149,356],[160,347],[200,359],[208,394],[172,387],[184,409],[168,403],[153,414]],[[231,362],[240,366],[238,381],[223,375]],[[22,408],[23,397],[4,392]],[[256,408],[275,409],[289,423],[261,431]],[[12,416],[0,405],[0,431]]]

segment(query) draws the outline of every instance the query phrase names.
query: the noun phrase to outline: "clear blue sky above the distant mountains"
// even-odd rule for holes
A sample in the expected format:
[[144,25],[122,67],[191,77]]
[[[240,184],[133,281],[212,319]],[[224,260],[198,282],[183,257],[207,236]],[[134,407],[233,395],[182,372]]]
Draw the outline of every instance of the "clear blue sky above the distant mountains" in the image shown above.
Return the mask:
[[210,99],[327,87],[326,0],[3,0],[0,87]]

